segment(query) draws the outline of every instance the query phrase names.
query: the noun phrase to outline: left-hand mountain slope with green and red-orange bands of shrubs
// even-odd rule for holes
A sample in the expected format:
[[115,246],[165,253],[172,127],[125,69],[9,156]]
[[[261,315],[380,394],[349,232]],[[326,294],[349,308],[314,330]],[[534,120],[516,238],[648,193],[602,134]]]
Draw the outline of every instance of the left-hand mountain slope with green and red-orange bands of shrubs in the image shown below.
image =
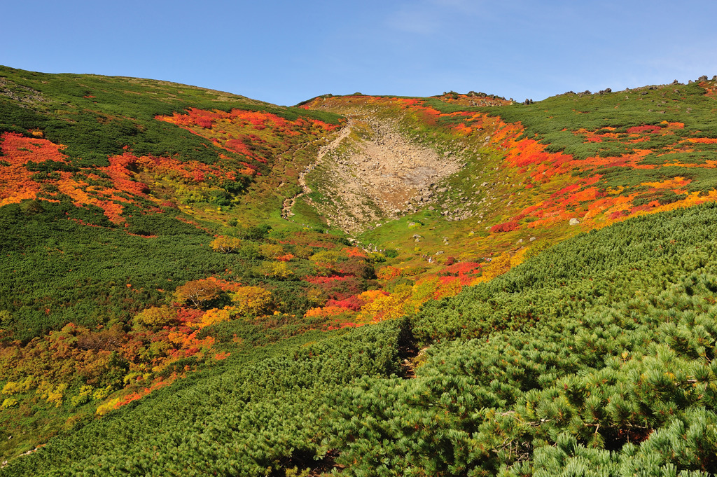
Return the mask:
[[219,361],[197,336],[209,323],[310,307],[313,285],[294,277],[346,244],[266,236],[336,115],[151,80],[0,75],[3,455]]

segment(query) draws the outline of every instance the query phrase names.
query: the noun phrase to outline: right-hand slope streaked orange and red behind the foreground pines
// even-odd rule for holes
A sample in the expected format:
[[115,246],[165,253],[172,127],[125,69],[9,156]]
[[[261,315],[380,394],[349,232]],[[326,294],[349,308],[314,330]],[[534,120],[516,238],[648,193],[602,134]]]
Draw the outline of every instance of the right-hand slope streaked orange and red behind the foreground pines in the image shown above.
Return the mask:
[[[553,240],[622,217],[713,200],[713,88],[715,82],[705,80],[491,108],[457,104],[471,98],[460,95],[327,97],[304,107],[400,123],[415,143],[445,154],[446,165],[460,157],[459,174],[437,180],[430,197],[415,193],[402,214],[444,229],[458,250],[485,255],[504,250],[508,240]],[[579,227],[571,230],[570,219]],[[381,231],[359,238],[405,250],[416,234],[392,227],[382,239]],[[418,247],[421,255],[437,248],[455,255],[435,242]]]

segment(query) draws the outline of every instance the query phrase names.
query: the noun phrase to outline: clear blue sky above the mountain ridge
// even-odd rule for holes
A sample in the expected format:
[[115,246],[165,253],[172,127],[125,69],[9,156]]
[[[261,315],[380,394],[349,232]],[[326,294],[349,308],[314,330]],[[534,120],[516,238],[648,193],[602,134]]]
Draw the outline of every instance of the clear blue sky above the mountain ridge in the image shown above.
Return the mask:
[[540,100],[717,75],[717,2],[8,1],[0,64],[293,105],[333,93]]

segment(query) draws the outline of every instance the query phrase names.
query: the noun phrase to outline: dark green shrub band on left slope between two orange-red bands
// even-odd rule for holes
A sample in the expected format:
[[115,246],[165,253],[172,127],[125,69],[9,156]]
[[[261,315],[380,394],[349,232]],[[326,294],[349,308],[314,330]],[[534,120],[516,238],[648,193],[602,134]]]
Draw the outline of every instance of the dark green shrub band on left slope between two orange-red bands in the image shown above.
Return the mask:
[[[2,339],[27,341],[70,322],[125,326],[139,311],[171,301],[177,286],[212,275],[261,284],[272,292],[272,310],[302,316],[312,306],[306,295],[310,285],[302,281],[316,273],[309,260],[295,258],[288,278],[261,271],[273,260],[261,255],[260,245],[282,240],[286,232],[274,238],[270,227],[224,227],[244,239],[239,252],[222,254],[210,246],[214,225],[189,225],[177,217],[194,219],[176,209],[145,215],[128,207],[125,212],[128,227],[115,226],[97,207],[68,202],[25,201],[0,208],[0,327],[10,332]],[[340,237],[322,240],[343,245]],[[359,281],[364,289],[371,285]]]

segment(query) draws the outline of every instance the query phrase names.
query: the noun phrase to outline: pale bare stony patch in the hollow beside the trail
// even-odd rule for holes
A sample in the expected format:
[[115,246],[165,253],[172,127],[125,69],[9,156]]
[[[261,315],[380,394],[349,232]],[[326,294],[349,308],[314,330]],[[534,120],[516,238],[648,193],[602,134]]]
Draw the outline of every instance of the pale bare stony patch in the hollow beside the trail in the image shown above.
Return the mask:
[[460,170],[457,154],[412,141],[389,120],[351,117],[348,130],[306,171],[323,197],[313,202],[329,225],[355,234],[432,202],[432,186]]

